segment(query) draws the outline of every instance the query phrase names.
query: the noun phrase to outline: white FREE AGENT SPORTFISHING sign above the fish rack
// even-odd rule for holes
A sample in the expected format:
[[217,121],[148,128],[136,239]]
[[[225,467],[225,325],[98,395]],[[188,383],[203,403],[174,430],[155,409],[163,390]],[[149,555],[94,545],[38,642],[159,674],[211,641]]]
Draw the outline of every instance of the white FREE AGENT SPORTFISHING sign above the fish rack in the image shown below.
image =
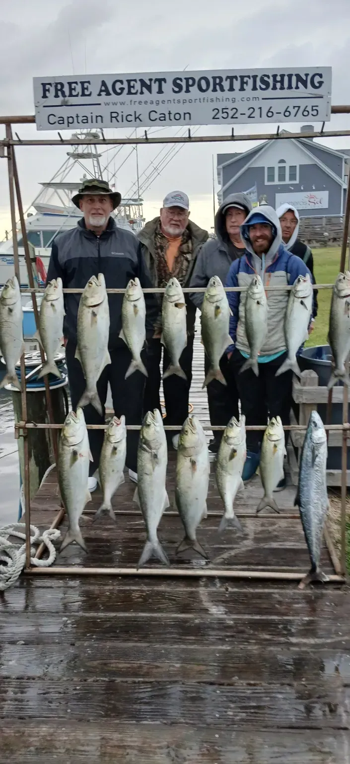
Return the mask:
[[332,69],[34,77],[38,130],[325,121]]

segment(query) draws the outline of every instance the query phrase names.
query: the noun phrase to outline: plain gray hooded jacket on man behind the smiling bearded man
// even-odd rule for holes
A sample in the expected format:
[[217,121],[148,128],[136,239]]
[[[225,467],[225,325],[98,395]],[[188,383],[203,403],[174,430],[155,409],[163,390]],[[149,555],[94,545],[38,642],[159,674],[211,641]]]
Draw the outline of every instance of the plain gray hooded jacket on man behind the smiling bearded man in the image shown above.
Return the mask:
[[[245,193],[233,193],[227,196],[215,215],[217,238],[210,239],[201,248],[191,276],[190,286],[207,286],[212,276],[218,276],[223,284],[226,281],[230,265],[236,259],[232,251],[230,252],[230,238],[226,231],[225,215],[223,215],[223,209],[230,202],[242,204],[248,211],[252,209],[252,204]],[[241,252],[245,254],[244,249]],[[199,309],[201,309],[203,298],[204,292],[191,293],[192,303]]]

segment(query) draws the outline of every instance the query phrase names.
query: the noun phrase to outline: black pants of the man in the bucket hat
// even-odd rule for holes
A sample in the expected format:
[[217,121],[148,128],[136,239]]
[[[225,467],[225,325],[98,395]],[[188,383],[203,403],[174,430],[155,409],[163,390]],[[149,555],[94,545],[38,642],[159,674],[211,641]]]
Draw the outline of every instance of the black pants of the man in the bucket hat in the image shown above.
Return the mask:
[[[70,397],[72,409],[78,406],[79,398],[85,390],[85,377],[80,361],[75,358],[75,344],[68,342],[66,346],[66,364],[69,377]],[[111,364],[104,367],[98,380],[97,389],[101,400],[103,413],[107,398],[108,382],[111,385],[111,393],[115,416],[125,416],[127,425],[140,425],[142,419],[143,389],[146,377],[140,371],[134,371],[127,380],[124,379],[130,365],[131,354],[127,346],[110,350]],[[143,358],[143,361],[145,359]],[[104,424],[104,416],[100,416],[94,406],[88,404],[84,408],[85,422],[87,425]],[[88,441],[92,458],[89,474],[94,474],[98,468],[104,430],[88,430]],[[137,444],[139,442],[138,430],[127,430],[127,467],[134,472],[137,469]]]

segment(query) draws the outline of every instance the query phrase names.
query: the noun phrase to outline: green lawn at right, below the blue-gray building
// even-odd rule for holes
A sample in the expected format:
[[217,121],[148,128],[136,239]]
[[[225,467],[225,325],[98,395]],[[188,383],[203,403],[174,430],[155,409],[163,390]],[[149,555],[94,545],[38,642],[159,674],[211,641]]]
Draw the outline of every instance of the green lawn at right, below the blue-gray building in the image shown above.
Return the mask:
[[[313,250],[313,273],[316,283],[334,283],[339,274],[340,247],[325,247]],[[319,290],[317,301],[319,304],[315,329],[307,340],[307,347],[313,345],[328,345],[329,311],[332,290]]]

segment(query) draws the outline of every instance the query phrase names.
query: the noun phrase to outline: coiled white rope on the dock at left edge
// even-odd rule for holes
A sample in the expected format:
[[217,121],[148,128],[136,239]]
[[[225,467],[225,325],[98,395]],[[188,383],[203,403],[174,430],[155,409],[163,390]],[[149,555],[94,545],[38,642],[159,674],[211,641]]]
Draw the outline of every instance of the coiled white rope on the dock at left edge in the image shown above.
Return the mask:
[[[45,474],[43,480],[40,483],[40,487],[46,481],[47,475],[50,471],[56,467],[56,465],[50,465]],[[22,514],[25,512],[24,501],[24,486],[21,485],[20,500]],[[23,523],[11,523],[11,525],[0,528],[0,591],[8,589],[21,575],[21,572],[25,565],[25,533],[21,533],[19,528],[23,529]],[[16,530],[17,529],[17,530]],[[16,539],[21,539],[24,544],[18,545],[8,541],[8,536],[14,536]],[[53,541],[58,541],[61,538],[61,533],[57,529],[48,529],[43,531],[43,535],[40,536],[40,530],[37,526],[31,525],[31,565],[36,565],[40,568],[48,568],[56,560],[56,549],[53,546]],[[39,545],[43,542],[49,550],[49,556],[46,559],[38,559],[35,555],[35,545]]]

